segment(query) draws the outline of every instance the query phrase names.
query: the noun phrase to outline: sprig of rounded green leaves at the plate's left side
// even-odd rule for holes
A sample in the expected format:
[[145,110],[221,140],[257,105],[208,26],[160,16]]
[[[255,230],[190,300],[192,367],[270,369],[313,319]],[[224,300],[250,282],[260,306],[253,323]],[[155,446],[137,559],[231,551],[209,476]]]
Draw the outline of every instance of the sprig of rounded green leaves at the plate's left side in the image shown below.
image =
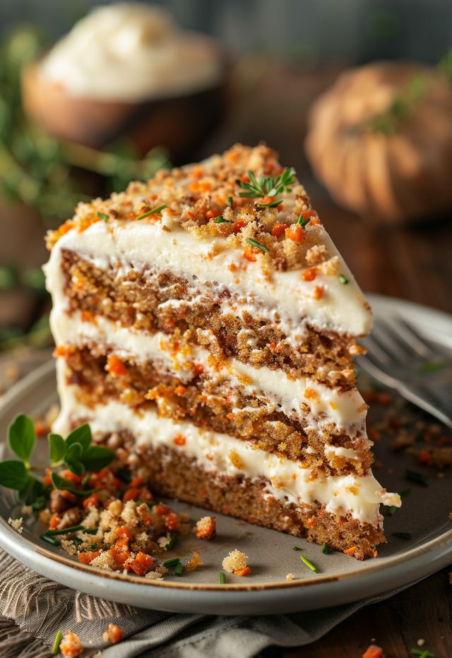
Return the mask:
[[[112,462],[114,453],[102,445],[91,445],[92,435],[88,424],[74,429],[64,439],[49,434],[49,459],[52,469],[66,466],[82,477],[86,472],[98,471]],[[32,474],[31,457],[36,444],[35,426],[30,417],[19,414],[8,427],[8,445],[18,460],[0,462],[0,485],[18,491],[19,498],[35,509],[44,506],[51,486]],[[88,496],[94,489],[76,489],[73,484],[52,472],[55,489],[66,489],[78,496]]]

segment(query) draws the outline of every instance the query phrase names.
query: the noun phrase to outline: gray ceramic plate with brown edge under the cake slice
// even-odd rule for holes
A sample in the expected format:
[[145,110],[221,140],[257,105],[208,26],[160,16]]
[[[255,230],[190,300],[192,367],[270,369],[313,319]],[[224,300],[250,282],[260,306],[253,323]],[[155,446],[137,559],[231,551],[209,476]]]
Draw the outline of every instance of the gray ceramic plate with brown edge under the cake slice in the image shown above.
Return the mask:
[[[376,316],[398,312],[446,349],[452,348],[452,318],[421,306],[371,297]],[[54,366],[45,364],[4,397],[0,411],[0,436],[19,412],[39,414],[57,399]],[[371,410],[375,414],[377,410]],[[41,442],[42,454],[47,441]],[[4,446],[3,446],[4,447]],[[376,460],[383,465],[376,476],[391,491],[405,489],[406,468],[413,468],[410,455],[393,455],[384,438],[376,445]],[[420,470],[419,467],[415,467]],[[143,608],[182,613],[204,614],[272,614],[303,611],[352,602],[408,585],[452,561],[452,527],[448,513],[451,473],[436,477],[426,469],[429,486],[410,484],[410,496],[403,508],[385,520],[388,544],[381,547],[379,557],[357,562],[340,553],[323,555],[319,546],[217,515],[218,535],[214,542],[201,542],[195,537],[184,541],[188,554],[197,548],[204,566],[182,578],[171,576],[160,582],[137,576],[117,575],[84,566],[53,549],[39,539],[42,527],[32,520],[24,521],[23,534],[7,523],[10,515],[20,515],[13,492],[0,489],[0,546],[26,566],[64,585],[88,594]],[[193,520],[202,510],[175,503],[187,510]],[[392,537],[392,532],[410,532],[412,539]],[[304,555],[320,568],[314,575],[293,551],[297,544]],[[218,584],[222,558],[238,548],[249,556],[253,574],[247,578],[228,575],[227,585]],[[170,556],[170,554],[169,554]],[[285,575],[294,573],[287,582]]]

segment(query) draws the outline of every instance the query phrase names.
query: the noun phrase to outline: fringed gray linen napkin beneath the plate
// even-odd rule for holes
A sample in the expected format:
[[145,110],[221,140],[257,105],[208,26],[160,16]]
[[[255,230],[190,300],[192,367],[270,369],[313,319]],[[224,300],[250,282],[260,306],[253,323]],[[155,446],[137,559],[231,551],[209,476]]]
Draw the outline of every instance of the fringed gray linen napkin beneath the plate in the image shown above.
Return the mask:
[[[169,614],[116,604],[75,592],[23,566],[0,551],[0,656],[49,658],[58,630],[77,633],[84,657],[252,658],[266,647],[315,642],[365,605],[365,601],[319,611],[258,617]],[[124,632],[117,645],[102,641],[109,623]]]

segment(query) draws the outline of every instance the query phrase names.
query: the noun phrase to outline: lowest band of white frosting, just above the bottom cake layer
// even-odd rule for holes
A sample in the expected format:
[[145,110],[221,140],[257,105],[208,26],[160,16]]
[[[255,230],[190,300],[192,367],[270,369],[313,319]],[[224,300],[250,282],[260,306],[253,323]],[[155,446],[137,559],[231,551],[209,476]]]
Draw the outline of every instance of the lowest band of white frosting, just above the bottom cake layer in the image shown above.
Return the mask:
[[[299,462],[278,457],[249,442],[214,431],[204,431],[187,421],[175,422],[160,418],[153,410],[136,412],[121,402],[109,401],[94,409],[80,405],[71,387],[65,383],[64,361],[57,362],[61,413],[54,431],[66,433],[74,419],[87,419],[94,433],[129,430],[138,446],[172,450],[194,458],[198,465],[217,475],[245,475],[250,479],[265,478],[268,495],[282,503],[320,503],[336,514],[351,513],[352,517],[373,525],[379,523],[379,505],[400,506],[398,493],[387,493],[369,473],[363,477],[312,477],[309,468]],[[174,443],[179,435],[185,438],[184,446]]]

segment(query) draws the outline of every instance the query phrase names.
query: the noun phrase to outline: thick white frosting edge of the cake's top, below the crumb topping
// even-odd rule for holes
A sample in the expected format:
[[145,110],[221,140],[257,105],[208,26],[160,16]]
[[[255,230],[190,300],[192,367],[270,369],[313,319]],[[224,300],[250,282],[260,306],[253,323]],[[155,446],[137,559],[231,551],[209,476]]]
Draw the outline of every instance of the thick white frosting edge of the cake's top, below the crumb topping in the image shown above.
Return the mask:
[[[307,227],[319,232],[328,253],[340,262],[347,277],[342,285],[339,277],[319,273],[316,281],[304,281],[299,270],[274,271],[267,276],[258,262],[244,260],[242,250],[230,249],[220,237],[198,239],[194,234],[162,212],[162,221],[146,220],[96,222],[83,232],[71,229],[52,249],[46,275],[50,292],[52,277],[60,265],[61,249],[76,251],[98,268],[114,268],[117,276],[131,268],[155,267],[186,277],[189,281],[209,282],[218,288],[230,287],[251,304],[260,302],[269,312],[299,327],[308,320],[319,329],[350,335],[365,335],[371,329],[371,312],[355,279],[323,227]],[[323,285],[323,297],[315,299],[315,285]]]

